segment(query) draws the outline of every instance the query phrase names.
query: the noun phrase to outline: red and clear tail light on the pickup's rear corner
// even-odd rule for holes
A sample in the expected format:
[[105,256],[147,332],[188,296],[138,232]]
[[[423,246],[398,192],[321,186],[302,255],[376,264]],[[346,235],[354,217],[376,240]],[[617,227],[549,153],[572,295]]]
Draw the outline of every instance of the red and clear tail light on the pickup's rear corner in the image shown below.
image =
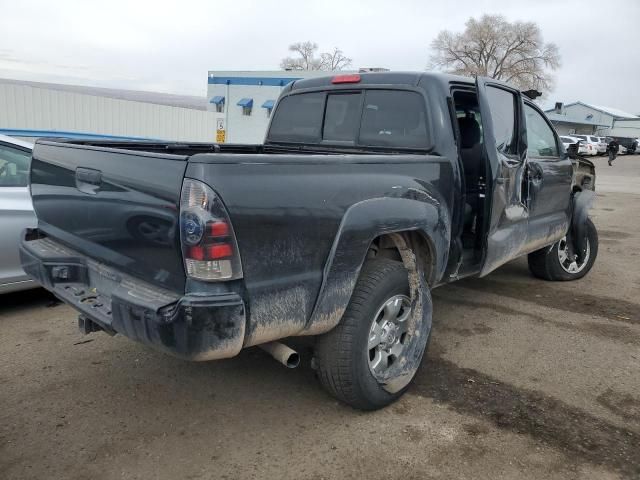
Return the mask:
[[227,210],[209,186],[188,178],[180,197],[180,241],[189,277],[204,281],[242,278]]

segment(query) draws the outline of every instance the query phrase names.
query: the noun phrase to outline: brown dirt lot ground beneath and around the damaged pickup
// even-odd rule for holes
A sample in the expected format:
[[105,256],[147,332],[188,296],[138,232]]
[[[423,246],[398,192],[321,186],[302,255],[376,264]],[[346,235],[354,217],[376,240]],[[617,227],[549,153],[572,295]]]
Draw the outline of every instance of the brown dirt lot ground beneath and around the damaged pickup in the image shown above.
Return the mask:
[[592,273],[437,289],[415,385],[375,413],[259,350],[185,363],[3,297],[0,478],[640,478],[640,156],[596,162]]

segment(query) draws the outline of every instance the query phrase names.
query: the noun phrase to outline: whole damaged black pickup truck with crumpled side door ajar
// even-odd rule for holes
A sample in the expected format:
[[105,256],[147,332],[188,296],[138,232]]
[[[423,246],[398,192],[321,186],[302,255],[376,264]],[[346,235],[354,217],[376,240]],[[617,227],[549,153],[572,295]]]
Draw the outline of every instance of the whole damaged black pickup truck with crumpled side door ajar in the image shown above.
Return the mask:
[[431,289],[522,255],[547,280],[591,269],[595,178],[569,157],[494,80],[296,81],[262,145],[38,141],[22,264],[84,332],[188,360],[293,365],[278,340],[314,336],[323,386],[375,409],[422,361]]

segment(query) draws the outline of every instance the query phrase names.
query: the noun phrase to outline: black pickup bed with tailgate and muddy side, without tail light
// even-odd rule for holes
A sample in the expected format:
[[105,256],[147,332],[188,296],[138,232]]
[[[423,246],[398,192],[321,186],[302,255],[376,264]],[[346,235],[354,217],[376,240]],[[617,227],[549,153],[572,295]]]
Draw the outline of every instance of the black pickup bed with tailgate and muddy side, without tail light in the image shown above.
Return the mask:
[[[332,282],[352,282],[380,232],[450,218],[456,181],[450,161],[435,155],[295,150],[40,140],[31,177],[39,230],[159,288],[211,291],[220,287],[186,278],[180,246],[183,178],[200,180],[221,198],[237,237],[246,343],[293,335],[323,315],[314,308],[330,295],[331,268],[342,275]],[[438,251],[448,251],[449,236],[444,225]],[[336,251],[341,238],[348,251]],[[446,259],[436,259],[437,271]]]

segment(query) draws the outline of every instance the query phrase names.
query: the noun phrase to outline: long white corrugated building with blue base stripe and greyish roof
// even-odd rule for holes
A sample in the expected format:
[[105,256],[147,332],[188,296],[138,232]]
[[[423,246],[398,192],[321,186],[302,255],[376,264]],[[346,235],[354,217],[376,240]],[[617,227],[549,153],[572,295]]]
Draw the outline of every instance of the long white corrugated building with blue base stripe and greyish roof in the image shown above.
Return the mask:
[[0,134],[215,142],[199,97],[0,79]]

